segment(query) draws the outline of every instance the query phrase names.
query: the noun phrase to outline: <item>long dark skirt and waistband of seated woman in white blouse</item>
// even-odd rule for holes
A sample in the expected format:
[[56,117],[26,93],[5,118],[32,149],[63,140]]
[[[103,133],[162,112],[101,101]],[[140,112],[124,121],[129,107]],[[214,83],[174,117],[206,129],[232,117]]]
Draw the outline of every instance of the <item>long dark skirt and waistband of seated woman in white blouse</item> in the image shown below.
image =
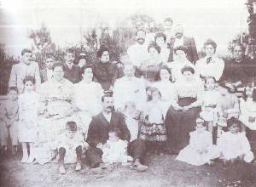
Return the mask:
[[[195,98],[178,99],[178,105],[187,106],[195,102]],[[178,153],[189,144],[189,133],[195,130],[195,121],[201,107],[193,107],[188,111],[177,111],[172,106],[166,113],[166,133],[168,150]]]

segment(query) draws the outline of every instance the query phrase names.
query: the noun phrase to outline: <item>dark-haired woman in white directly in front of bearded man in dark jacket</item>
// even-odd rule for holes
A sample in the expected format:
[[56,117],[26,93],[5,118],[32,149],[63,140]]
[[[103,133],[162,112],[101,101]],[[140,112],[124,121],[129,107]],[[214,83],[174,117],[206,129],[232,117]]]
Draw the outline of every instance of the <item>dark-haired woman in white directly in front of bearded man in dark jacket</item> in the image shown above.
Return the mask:
[[177,46],[173,49],[175,54],[175,61],[168,62],[166,65],[172,70],[172,82],[177,82],[183,79],[181,70],[183,66],[195,67],[187,58],[188,48],[186,46]]

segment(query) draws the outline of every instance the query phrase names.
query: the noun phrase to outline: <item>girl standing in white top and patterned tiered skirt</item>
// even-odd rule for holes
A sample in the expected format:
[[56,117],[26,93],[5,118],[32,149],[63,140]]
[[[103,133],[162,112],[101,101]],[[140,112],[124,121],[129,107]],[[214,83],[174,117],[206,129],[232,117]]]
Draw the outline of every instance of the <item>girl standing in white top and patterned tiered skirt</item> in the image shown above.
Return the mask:
[[140,128],[140,139],[146,140],[147,144],[156,153],[162,153],[166,144],[166,116],[165,102],[161,101],[161,94],[157,88],[149,88],[149,101],[143,110],[143,124]]

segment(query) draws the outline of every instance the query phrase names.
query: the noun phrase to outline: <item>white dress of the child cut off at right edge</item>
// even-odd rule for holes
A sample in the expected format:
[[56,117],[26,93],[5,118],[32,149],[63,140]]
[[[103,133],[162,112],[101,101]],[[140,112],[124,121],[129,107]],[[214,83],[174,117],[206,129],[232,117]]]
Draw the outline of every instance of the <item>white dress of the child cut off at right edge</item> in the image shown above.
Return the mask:
[[[241,122],[251,130],[256,130],[256,102],[252,98],[248,98],[247,101],[241,99],[240,110],[239,119]],[[249,117],[253,117],[254,122],[249,122]]]

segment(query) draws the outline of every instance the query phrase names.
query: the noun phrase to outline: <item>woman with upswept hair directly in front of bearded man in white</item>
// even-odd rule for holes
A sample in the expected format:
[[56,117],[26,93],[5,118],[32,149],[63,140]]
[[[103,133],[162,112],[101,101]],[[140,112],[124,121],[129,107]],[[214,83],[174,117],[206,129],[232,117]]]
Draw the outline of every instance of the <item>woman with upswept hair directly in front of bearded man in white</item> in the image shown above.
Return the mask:
[[159,80],[159,71],[163,62],[160,59],[160,46],[156,42],[150,42],[148,45],[148,54],[150,59],[144,61],[138,68],[137,77],[143,77],[147,87],[151,86],[152,82]]

